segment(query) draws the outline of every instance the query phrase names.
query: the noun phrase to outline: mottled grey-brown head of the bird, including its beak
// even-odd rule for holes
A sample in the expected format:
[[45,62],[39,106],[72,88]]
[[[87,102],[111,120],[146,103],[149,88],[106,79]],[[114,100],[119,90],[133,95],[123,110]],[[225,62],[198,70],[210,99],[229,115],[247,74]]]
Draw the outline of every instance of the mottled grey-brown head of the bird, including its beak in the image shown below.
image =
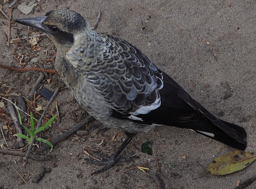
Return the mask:
[[15,22],[39,29],[48,35],[56,46],[61,47],[71,47],[74,35],[92,29],[83,16],[68,9],[55,9],[42,17],[18,19]]

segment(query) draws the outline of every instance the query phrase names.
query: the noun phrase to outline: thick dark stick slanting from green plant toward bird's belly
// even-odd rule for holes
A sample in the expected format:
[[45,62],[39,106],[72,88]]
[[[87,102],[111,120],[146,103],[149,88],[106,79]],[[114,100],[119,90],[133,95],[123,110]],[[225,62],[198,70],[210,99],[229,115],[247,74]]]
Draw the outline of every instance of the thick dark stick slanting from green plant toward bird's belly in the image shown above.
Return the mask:
[[[82,120],[81,122],[77,123],[74,127],[72,127],[71,129],[69,129],[67,132],[63,133],[62,135],[52,139],[50,142],[52,143],[53,146],[55,146],[58,142],[60,142],[61,140],[63,140],[64,138],[67,138],[68,136],[70,136],[71,134],[73,134],[74,132],[76,132],[78,129],[80,129],[81,127],[83,127],[84,125],[88,124],[89,122],[91,122],[94,118],[89,115],[87,116],[84,120]],[[47,150],[48,148],[50,148],[49,145],[45,144],[44,146],[41,146],[39,148],[40,151],[44,152],[45,150]]]

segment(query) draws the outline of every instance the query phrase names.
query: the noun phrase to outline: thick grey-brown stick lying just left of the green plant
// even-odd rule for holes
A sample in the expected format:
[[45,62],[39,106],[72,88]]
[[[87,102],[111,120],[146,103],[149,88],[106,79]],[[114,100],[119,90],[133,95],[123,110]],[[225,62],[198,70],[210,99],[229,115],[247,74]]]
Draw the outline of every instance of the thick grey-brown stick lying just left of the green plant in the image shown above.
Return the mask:
[[[12,98],[8,97],[8,100],[12,101]],[[10,114],[11,114],[12,121],[13,121],[13,123],[15,125],[15,128],[16,128],[16,132],[19,133],[19,134],[22,134],[22,128],[21,128],[21,125],[20,125],[20,122],[19,122],[19,118],[16,115],[16,109],[14,109],[14,106],[12,105],[12,103],[10,101],[7,102],[7,108],[9,110]],[[24,145],[25,144],[24,144],[23,138],[17,137],[17,142],[15,143],[14,148],[15,149],[20,149]]]

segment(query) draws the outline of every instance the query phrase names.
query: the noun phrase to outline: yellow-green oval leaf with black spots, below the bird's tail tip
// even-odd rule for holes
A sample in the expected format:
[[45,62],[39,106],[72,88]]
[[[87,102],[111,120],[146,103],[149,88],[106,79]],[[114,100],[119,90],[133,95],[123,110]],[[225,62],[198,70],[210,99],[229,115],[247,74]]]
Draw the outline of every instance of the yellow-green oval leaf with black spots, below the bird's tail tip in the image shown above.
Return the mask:
[[244,169],[255,159],[256,155],[251,152],[234,151],[213,160],[206,171],[212,175],[227,175]]

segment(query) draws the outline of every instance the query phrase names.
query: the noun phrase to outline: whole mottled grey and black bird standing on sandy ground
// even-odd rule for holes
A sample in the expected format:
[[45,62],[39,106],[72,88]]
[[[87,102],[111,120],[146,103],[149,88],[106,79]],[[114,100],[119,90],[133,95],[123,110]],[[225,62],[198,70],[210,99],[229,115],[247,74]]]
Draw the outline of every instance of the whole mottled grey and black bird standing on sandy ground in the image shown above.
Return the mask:
[[105,165],[92,174],[129,159],[119,155],[132,138],[157,125],[190,129],[245,150],[244,128],[215,117],[137,47],[97,33],[78,12],[54,9],[15,22],[44,32],[57,49],[54,67],[76,101],[106,127],[124,131],[126,138],[113,156],[85,159]]

